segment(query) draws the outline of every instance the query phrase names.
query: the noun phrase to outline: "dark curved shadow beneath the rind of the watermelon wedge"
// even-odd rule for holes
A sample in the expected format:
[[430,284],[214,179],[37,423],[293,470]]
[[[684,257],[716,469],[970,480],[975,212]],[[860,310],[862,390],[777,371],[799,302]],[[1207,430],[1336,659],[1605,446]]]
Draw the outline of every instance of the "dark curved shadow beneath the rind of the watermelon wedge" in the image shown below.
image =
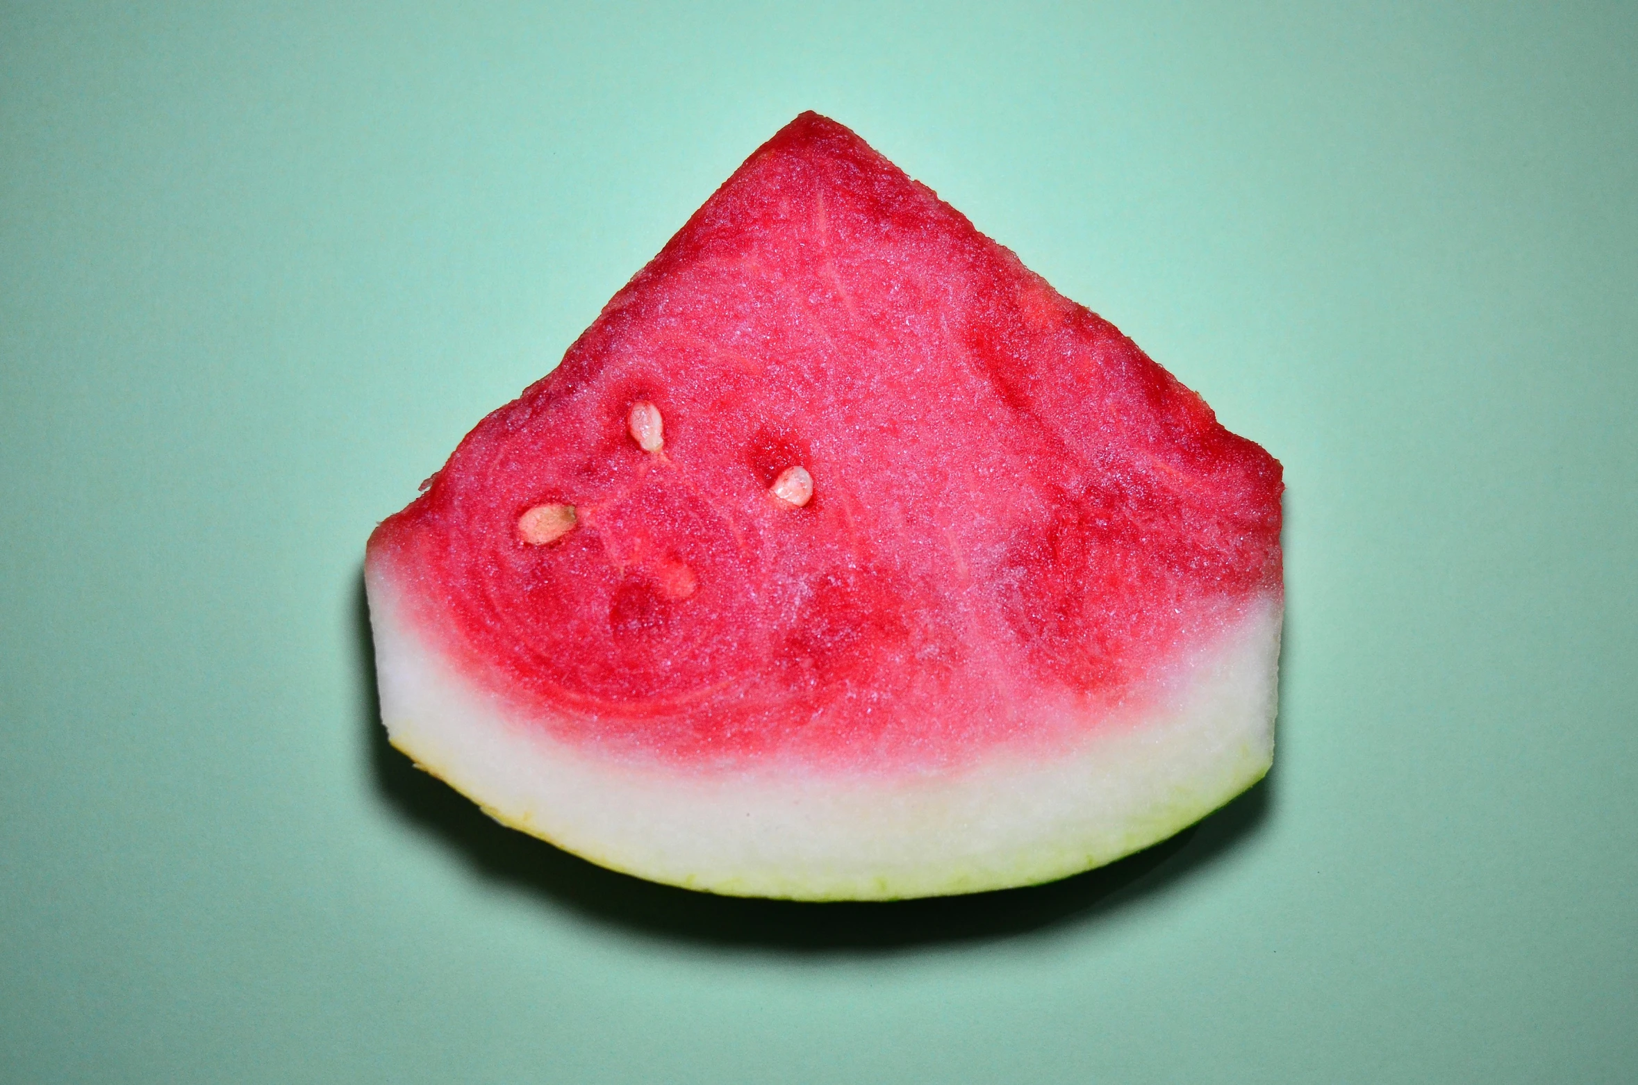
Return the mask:
[[462,856],[475,875],[632,933],[696,944],[858,951],[1001,939],[1093,923],[1153,900],[1256,833],[1271,813],[1273,774],[1199,824],[1107,867],[1047,885],[966,897],[804,903],[657,885],[491,821],[475,803],[393,749],[380,724],[362,577],[351,608],[367,785],[377,798],[395,816]]

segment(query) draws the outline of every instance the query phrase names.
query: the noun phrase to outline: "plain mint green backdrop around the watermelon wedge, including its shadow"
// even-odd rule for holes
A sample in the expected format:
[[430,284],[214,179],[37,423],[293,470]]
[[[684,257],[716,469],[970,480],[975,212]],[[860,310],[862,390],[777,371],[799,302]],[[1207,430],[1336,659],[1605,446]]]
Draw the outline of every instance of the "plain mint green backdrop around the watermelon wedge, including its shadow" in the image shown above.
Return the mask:
[[[0,1078],[1633,1080],[1638,8],[586,7],[0,8]],[[377,738],[372,524],[803,108],[1286,464],[1278,769],[1109,872],[691,897]]]

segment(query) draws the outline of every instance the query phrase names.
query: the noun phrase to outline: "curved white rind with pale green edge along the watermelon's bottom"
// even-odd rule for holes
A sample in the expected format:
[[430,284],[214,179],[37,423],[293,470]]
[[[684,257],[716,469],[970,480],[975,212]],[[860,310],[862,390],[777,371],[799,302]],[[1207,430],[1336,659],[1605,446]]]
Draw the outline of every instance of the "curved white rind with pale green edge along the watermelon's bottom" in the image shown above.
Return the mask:
[[1152,716],[1089,721],[1068,754],[847,779],[667,772],[565,746],[441,659],[375,562],[365,587],[393,746],[503,824],[713,893],[893,900],[1048,882],[1192,824],[1256,783],[1274,752],[1278,597],[1191,654]]

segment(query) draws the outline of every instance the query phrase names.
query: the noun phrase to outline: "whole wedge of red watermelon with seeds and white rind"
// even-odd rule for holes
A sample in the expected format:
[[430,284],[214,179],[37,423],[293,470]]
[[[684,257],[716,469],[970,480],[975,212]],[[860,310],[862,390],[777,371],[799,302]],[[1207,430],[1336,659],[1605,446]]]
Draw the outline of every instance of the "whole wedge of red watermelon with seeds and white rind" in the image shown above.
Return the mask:
[[804,113],[370,536],[391,742],[645,878],[965,893],[1273,756],[1279,464]]

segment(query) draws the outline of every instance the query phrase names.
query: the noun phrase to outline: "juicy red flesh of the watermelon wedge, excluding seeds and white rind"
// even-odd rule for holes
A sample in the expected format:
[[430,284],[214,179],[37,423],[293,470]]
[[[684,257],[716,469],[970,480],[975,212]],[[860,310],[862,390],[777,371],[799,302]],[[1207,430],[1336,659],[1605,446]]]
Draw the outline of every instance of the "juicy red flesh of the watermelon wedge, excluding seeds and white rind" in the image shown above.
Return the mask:
[[[770,487],[798,465],[793,506]],[[1142,726],[1191,647],[1278,600],[1279,493],[1279,464],[1112,325],[809,113],[370,562],[555,741],[925,772]],[[529,542],[542,505],[575,526]]]

